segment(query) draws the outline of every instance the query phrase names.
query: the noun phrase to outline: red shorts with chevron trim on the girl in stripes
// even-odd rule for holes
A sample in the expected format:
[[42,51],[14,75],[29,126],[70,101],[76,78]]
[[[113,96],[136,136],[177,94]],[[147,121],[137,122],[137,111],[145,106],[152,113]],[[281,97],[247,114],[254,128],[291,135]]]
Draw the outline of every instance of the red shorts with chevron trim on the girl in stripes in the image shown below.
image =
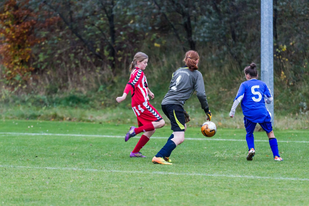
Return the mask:
[[132,109],[137,116],[138,127],[162,120],[159,112],[148,101],[132,107]]

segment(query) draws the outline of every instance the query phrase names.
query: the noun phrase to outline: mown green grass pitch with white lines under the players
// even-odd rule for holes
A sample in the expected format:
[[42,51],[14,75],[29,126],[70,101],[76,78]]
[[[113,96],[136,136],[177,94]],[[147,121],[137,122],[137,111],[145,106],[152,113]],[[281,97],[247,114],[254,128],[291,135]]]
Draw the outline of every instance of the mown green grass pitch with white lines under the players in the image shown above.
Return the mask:
[[212,138],[189,127],[171,154],[151,158],[167,141],[157,129],[129,158],[138,137],[130,125],[2,120],[0,205],[307,205],[309,134],[275,130],[283,162],[275,162],[265,132],[255,132],[256,155],[246,160],[245,130],[218,128]]

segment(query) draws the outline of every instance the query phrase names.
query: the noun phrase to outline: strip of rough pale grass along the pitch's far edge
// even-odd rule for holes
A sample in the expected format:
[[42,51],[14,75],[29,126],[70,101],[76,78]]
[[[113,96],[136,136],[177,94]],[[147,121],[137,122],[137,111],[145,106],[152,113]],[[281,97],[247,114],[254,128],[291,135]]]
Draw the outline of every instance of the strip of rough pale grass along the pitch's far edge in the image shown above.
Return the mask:
[[[130,101],[125,100],[125,105],[113,108],[86,108],[86,107],[36,107],[27,105],[8,106],[0,105],[0,119],[23,119],[23,120],[49,120],[49,121],[74,121],[95,122],[113,124],[137,125],[136,117],[131,109]],[[150,101],[162,115],[166,122],[165,127],[170,127],[170,121],[163,114],[160,103]],[[239,108],[240,109],[240,108]],[[200,107],[190,105],[186,110],[191,116],[188,127],[200,127],[206,120],[204,111]],[[212,121],[218,128],[244,128],[243,114],[237,110],[235,117],[229,117],[229,110],[212,110]],[[294,116],[280,115],[275,113],[273,127],[280,130],[286,129],[308,129],[308,114],[297,114]],[[260,130],[260,126],[257,125]]]

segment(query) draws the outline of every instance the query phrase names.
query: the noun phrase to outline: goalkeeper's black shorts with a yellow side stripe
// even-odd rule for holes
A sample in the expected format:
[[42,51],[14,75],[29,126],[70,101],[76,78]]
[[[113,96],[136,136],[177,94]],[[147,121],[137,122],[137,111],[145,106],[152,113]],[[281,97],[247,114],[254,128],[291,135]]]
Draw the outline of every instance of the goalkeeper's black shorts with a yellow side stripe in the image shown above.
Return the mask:
[[161,105],[162,111],[171,121],[171,130],[174,132],[184,131],[184,108],[179,104],[164,104]]

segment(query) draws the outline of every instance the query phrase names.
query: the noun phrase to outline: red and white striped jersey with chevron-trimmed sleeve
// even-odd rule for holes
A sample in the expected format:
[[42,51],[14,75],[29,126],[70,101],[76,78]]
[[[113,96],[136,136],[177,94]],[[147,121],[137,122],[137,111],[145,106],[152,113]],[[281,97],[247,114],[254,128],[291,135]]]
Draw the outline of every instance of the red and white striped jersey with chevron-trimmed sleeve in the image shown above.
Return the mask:
[[132,96],[132,107],[138,105],[142,106],[149,100],[146,76],[141,69],[135,68],[133,70],[132,76],[127,84],[132,86],[130,90]]

